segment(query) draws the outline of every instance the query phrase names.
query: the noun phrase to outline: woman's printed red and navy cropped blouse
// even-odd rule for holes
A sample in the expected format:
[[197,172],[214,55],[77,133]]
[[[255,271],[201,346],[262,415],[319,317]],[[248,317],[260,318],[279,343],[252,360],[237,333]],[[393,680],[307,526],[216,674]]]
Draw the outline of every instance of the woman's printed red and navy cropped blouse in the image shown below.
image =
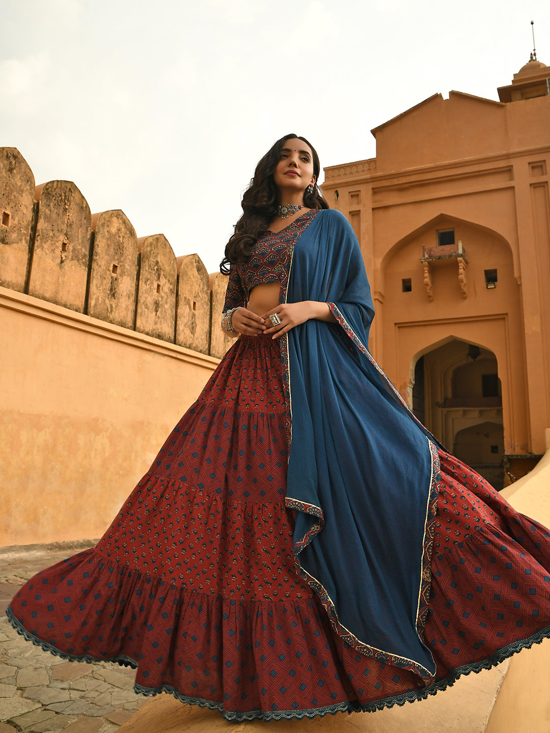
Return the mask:
[[246,306],[250,291],[256,285],[274,282],[285,284],[288,277],[288,260],[293,246],[318,213],[318,209],[310,209],[279,232],[265,232],[265,235],[257,240],[248,262],[231,265],[224,313],[238,306]]

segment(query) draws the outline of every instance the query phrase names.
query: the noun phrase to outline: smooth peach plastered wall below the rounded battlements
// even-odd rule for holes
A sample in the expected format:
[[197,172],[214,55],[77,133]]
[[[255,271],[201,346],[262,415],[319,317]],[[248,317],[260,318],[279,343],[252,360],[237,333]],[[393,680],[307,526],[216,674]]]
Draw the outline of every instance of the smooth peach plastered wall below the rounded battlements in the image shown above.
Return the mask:
[[0,287],[0,546],[100,537],[218,360]]

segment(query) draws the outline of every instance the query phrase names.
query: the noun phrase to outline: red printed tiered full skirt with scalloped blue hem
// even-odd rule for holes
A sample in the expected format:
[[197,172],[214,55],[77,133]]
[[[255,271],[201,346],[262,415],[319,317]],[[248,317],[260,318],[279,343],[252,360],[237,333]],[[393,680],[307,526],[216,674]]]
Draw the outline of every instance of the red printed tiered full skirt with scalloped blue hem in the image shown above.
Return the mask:
[[98,545],[16,594],[15,628],[229,720],[422,699],[550,635],[549,532],[440,451],[424,638],[436,679],[348,646],[296,571],[286,418],[279,344],[241,337]]

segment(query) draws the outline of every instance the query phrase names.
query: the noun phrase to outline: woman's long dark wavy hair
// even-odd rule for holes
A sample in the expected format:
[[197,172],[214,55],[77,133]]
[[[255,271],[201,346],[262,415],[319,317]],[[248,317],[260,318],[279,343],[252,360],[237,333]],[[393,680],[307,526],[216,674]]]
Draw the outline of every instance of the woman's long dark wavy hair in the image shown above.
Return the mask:
[[303,140],[311,148],[313,155],[313,173],[315,185],[311,194],[304,194],[304,205],[309,209],[328,209],[329,205],[323,199],[317,182],[319,180],[319,156],[315,148],[304,137],[299,135],[284,135],[276,141],[273,147],[265,153],[254,171],[241,202],[243,216],[235,224],[235,232],[225,246],[225,256],[220,263],[220,271],[227,275],[230,265],[236,262],[246,262],[254,245],[267,232],[268,226],[274,220],[279,206],[279,195],[273,178],[273,173],[281,155],[285,140],[297,138]]

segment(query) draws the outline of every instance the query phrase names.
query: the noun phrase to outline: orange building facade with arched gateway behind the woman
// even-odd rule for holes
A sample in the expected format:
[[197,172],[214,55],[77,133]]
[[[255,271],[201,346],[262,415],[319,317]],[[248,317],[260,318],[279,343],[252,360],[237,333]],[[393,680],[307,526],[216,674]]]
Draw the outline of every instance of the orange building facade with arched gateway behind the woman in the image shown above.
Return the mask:
[[433,95],[325,169],[362,246],[371,350],[419,419],[498,487],[550,426],[550,68],[499,101]]

